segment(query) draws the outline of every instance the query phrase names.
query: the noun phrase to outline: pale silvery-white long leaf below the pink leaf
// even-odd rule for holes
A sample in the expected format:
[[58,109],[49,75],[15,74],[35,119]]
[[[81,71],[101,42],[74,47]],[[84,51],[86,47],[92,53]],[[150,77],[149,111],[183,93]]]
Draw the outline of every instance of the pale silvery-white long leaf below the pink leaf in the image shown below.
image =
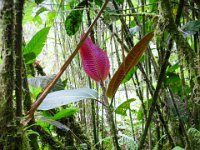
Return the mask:
[[89,88],[52,92],[47,95],[38,110],[49,110],[84,99],[97,99],[97,92]]

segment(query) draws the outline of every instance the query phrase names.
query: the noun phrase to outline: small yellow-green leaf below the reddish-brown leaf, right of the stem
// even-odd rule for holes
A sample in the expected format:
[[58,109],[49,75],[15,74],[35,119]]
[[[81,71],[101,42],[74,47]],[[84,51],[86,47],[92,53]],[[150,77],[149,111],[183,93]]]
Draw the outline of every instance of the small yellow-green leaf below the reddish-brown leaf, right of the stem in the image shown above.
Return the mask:
[[119,115],[122,115],[122,116],[126,116],[126,111],[128,109],[130,109],[130,104],[134,101],[135,99],[134,98],[131,98],[131,99],[128,99],[127,101],[123,102],[122,104],[120,104],[115,112]]

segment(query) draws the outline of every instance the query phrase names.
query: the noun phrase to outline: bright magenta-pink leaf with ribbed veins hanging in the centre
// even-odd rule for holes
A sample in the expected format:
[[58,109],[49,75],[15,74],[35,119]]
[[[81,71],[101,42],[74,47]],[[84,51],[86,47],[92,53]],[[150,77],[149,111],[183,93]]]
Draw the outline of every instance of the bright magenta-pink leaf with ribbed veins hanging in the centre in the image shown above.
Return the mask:
[[[81,37],[84,36],[82,34]],[[97,82],[104,81],[110,69],[110,63],[105,51],[97,47],[92,40],[87,37],[80,48],[83,69],[86,74]]]

